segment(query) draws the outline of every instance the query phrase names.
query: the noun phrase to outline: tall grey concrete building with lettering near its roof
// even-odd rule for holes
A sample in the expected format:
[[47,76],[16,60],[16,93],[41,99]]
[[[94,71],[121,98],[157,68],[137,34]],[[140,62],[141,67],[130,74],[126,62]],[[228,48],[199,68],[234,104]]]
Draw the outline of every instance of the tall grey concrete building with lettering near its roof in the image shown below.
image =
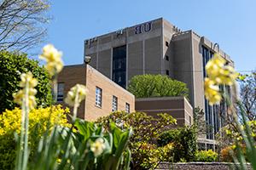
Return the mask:
[[224,105],[210,106],[204,97],[204,67],[216,52],[234,65],[230,56],[206,37],[192,30],[181,31],[162,18],[84,41],[84,56],[92,57],[90,65],[123,88],[131,77],[142,74],[167,75],[185,82],[190,104],[205,111],[209,147],[224,122],[219,114]]

